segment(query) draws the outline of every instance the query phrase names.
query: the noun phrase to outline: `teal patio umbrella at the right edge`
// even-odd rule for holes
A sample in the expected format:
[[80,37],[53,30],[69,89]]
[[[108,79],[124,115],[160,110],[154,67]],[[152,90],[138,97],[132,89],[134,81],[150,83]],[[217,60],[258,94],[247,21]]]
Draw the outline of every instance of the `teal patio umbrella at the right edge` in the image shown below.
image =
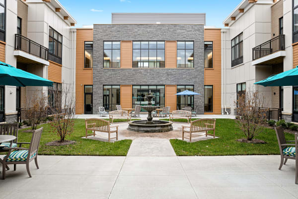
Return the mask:
[[297,86],[298,85],[298,66],[292,70],[283,73],[272,75],[265,80],[254,84],[264,87],[282,87],[282,86]]

